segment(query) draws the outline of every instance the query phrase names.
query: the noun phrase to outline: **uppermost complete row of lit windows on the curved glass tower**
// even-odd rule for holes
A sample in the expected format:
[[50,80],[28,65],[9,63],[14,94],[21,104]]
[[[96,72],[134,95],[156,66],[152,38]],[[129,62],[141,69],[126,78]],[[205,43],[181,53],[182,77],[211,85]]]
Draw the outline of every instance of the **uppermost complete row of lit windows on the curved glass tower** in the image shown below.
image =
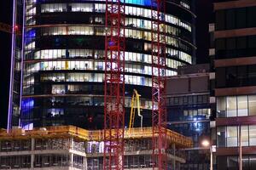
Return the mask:
[[[106,5],[103,3],[69,3],[68,6],[68,10],[70,12],[104,13],[106,8]],[[49,3],[41,5],[41,13],[67,12],[68,10],[66,3]],[[125,6],[125,14],[142,16],[151,19],[151,10],[147,8]],[[176,26],[182,26],[183,28],[191,31],[191,26],[189,24],[184,23],[176,16],[173,16],[171,14],[166,14],[166,22],[169,22]]]

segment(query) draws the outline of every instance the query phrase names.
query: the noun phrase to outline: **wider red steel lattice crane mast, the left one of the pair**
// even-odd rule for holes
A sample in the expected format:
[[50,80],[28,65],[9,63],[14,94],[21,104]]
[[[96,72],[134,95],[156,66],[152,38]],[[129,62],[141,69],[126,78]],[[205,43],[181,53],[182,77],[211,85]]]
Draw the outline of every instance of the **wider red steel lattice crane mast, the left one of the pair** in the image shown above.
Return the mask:
[[124,168],[125,3],[106,0],[104,170]]

